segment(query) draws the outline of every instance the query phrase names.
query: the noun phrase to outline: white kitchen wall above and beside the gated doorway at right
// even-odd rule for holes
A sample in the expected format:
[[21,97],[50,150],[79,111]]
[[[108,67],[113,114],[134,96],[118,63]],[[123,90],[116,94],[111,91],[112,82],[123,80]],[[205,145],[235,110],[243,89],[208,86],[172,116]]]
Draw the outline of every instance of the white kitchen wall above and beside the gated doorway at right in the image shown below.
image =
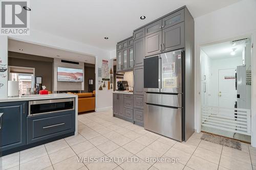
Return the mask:
[[[230,38],[252,35],[256,41],[256,1],[243,0],[209,14],[195,18],[195,98],[196,116],[195,129],[200,131],[200,45],[223,41]],[[252,42],[253,42],[252,41]],[[256,53],[252,52],[252,63],[256,63]],[[253,68],[252,76],[256,76],[256,69]],[[254,76],[254,77],[255,77]],[[256,84],[256,77],[252,83]],[[256,86],[253,86],[252,109],[256,111]],[[256,112],[252,112],[252,145],[256,147]]]

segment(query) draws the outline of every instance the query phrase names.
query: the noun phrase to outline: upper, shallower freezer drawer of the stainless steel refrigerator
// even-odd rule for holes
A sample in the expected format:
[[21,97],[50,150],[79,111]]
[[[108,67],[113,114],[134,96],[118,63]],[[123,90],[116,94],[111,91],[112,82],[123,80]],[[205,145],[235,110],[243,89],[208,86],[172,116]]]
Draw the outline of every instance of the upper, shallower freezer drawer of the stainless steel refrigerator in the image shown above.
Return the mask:
[[144,93],[145,103],[182,107],[182,94]]

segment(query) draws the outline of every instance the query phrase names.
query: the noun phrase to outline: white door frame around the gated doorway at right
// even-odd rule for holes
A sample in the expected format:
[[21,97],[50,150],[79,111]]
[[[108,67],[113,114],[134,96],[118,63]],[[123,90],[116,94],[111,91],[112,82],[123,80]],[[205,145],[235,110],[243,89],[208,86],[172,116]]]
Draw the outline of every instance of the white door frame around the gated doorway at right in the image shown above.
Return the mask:
[[[195,131],[197,133],[201,132],[201,47],[205,45],[211,45],[226,41],[231,41],[233,39],[240,39],[244,37],[251,38],[251,44],[256,44],[256,30],[252,32],[243,33],[240,35],[234,35],[233,37],[226,37],[216,41],[204,42],[197,44],[195,46]],[[255,47],[254,47],[255,48]],[[251,145],[256,147],[256,51],[252,47],[251,50]]]

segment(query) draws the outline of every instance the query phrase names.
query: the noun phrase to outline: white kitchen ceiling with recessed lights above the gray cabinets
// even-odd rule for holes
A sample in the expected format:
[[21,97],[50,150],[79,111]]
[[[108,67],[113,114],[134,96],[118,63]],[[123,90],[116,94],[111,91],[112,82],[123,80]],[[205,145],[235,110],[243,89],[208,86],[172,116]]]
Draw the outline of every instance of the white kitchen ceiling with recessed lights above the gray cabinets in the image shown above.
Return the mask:
[[[240,0],[30,1],[30,28],[114,50],[133,30],[186,5],[194,18]],[[140,16],[146,19],[141,20]],[[104,37],[109,37],[105,40]]]

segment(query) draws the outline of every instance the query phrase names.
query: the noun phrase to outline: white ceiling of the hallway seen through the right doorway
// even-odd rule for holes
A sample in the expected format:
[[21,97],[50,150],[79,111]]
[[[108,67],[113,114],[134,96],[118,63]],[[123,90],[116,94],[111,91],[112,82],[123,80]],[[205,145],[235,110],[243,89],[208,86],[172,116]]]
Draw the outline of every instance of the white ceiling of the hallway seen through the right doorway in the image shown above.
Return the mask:
[[[230,58],[230,57],[242,57],[243,47],[245,44],[231,45],[230,41],[222,42],[218,44],[212,44],[202,47],[202,50],[207,54],[211,59],[220,59],[220,58]],[[234,51],[236,54],[231,55],[232,49],[236,48]]]

